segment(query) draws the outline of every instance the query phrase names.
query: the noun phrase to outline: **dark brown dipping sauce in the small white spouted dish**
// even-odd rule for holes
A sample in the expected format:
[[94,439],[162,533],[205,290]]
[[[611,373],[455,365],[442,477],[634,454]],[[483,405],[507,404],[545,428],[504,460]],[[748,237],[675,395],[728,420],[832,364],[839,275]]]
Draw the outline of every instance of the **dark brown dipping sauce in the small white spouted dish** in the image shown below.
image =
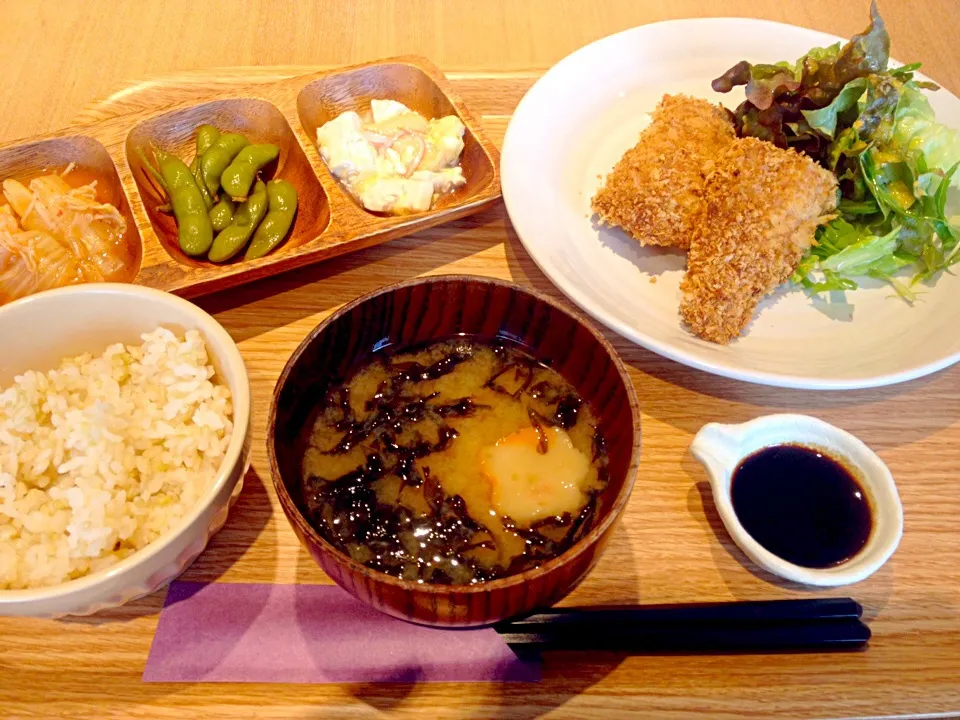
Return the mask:
[[842,464],[815,448],[774,445],[745,458],[730,489],[754,540],[794,565],[828,568],[867,544],[867,493]]

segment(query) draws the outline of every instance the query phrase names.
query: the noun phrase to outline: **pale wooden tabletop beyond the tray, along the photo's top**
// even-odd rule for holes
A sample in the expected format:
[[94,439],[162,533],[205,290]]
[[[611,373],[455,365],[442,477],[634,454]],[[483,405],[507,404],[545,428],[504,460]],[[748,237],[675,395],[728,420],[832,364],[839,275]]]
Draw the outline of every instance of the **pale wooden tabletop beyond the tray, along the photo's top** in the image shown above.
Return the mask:
[[[894,54],[960,92],[956,0],[880,0]],[[211,67],[335,67],[393,55],[446,72],[542,71],[605,35],[687,17],[757,17],[850,37],[868,0],[25,0],[3,5],[0,141],[73,122],[132,80]],[[792,59],[792,58],[791,58]]]

